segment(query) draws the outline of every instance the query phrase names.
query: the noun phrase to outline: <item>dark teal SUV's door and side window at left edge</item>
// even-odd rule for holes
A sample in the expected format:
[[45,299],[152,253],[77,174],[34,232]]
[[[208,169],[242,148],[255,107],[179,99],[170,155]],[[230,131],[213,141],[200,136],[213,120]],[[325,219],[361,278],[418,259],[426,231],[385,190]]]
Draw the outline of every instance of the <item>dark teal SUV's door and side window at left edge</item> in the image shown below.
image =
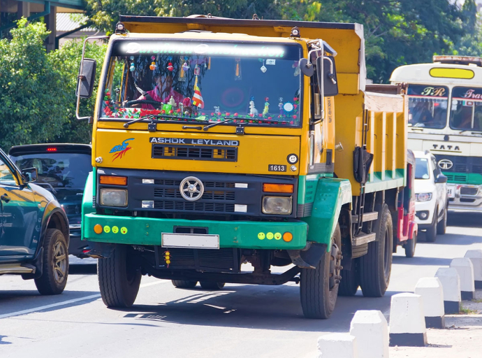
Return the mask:
[[34,255],[38,210],[34,193],[29,187],[20,186],[10,165],[0,155],[0,256]]

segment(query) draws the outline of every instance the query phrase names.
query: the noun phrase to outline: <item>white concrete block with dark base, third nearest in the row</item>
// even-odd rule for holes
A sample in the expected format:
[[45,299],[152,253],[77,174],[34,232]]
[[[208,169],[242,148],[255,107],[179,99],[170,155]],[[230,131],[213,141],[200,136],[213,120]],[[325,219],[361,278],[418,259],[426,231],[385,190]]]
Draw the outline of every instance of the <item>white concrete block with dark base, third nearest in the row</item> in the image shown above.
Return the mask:
[[390,346],[423,347],[427,344],[422,297],[402,293],[392,296],[390,306]]

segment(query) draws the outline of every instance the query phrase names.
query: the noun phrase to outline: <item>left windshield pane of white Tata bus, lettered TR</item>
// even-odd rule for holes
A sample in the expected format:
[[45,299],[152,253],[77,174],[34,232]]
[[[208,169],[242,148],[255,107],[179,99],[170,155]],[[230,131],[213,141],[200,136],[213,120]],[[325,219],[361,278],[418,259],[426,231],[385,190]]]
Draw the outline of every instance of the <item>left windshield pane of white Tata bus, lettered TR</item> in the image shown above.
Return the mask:
[[442,129],[447,123],[448,87],[409,85],[409,127]]

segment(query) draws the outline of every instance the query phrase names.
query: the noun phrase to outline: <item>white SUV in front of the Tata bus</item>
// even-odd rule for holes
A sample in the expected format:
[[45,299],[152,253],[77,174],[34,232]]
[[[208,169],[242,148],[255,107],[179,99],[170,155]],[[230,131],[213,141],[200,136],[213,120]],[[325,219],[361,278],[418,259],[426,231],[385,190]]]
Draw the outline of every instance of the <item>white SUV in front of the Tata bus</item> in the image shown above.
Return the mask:
[[426,230],[427,241],[434,242],[437,234],[447,227],[447,177],[441,173],[434,155],[429,151],[414,151],[415,210],[418,229]]

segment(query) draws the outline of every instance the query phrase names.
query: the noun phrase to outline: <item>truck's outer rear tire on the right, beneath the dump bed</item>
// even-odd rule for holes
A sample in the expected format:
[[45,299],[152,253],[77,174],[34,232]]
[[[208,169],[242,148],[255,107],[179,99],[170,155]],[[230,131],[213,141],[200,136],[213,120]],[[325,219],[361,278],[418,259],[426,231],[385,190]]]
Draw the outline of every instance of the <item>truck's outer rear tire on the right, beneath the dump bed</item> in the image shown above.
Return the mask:
[[388,206],[379,210],[379,220],[374,223],[375,241],[368,243],[368,252],[360,257],[360,287],[363,296],[381,297],[390,282],[393,251],[393,222]]

